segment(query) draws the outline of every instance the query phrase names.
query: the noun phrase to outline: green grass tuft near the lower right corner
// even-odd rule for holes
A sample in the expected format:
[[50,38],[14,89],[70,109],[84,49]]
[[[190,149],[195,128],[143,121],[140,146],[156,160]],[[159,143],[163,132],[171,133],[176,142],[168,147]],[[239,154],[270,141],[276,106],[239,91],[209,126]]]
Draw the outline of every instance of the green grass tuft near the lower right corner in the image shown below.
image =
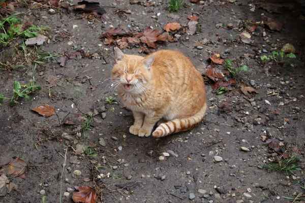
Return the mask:
[[295,175],[293,172],[302,171],[299,164],[299,159],[296,156],[278,160],[277,163],[270,163],[265,165],[267,171],[271,172],[289,172]]

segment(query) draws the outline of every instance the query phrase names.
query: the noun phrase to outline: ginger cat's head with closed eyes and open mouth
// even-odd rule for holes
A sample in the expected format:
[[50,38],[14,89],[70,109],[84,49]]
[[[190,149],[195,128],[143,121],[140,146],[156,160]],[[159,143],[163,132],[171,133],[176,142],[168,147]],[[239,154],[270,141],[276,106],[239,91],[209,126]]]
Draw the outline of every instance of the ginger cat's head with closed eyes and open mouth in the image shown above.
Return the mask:
[[116,64],[112,70],[113,85],[134,94],[145,91],[150,80],[150,67],[155,61],[155,56],[144,58],[137,55],[127,55],[117,47],[114,47],[114,53]]

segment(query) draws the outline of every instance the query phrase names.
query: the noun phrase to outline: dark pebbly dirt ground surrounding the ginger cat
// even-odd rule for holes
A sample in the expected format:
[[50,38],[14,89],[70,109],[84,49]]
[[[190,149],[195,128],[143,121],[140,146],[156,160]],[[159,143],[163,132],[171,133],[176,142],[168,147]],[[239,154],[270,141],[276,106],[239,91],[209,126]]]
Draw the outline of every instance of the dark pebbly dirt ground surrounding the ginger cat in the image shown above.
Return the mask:
[[[43,196],[46,196],[45,202],[59,202],[60,194],[63,196],[67,191],[70,193],[62,197],[62,202],[73,202],[73,191],[68,188],[80,185],[95,188],[102,194],[98,202],[107,203],[292,202],[285,197],[303,198],[303,172],[294,172],[294,175],[268,172],[264,165],[280,155],[262,141],[262,136],[279,139],[289,152],[297,146],[296,156],[303,168],[305,20],[301,6],[292,10],[284,8],[278,14],[255,8],[251,1],[240,1],[238,5],[211,0],[204,1],[205,5],[190,4],[189,8],[182,7],[170,14],[167,1],[156,1],[150,7],[124,0],[99,2],[110,7],[105,8],[107,13],[102,20],[95,19],[92,24],[93,21],[79,18],[82,14],[60,14],[57,10],[51,15],[46,7],[19,16],[23,21],[49,27],[51,31],[46,36],[50,43],[45,43],[43,50],[60,55],[65,51],[83,50],[96,55],[68,59],[65,66],[60,66],[55,59],[45,61],[34,73],[42,89],[32,94],[30,101],[20,99],[18,105],[10,107],[4,100],[0,109],[0,165],[20,157],[28,166],[25,179],[10,179],[18,188],[0,196],[0,202],[42,202]],[[131,14],[125,14],[125,20],[114,13],[126,8]],[[15,8],[16,11],[25,9]],[[199,17],[201,31],[193,36],[184,33],[179,39],[175,37],[173,43],[160,43],[157,50],[179,50],[199,70],[210,64],[210,53],[218,52],[233,61],[242,61],[249,71],[238,74],[236,84],[230,87],[232,91],[221,95],[206,83],[209,110],[204,121],[194,129],[159,140],[133,136],[128,131],[133,122],[132,112],[122,103],[105,102],[105,97],[110,95],[119,99],[111,86],[106,87],[114,64],[114,45],[104,45],[100,36],[112,26],[132,32],[152,26],[161,31],[168,22],[187,24],[187,17],[193,14]],[[231,42],[244,30],[239,27],[240,20],[258,22],[262,14],[283,23],[281,31],[258,25],[251,34],[252,44]],[[217,28],[218,23],[224,26]],[[233,25],[228,28],[229,23]],[[71,33],[73,37],[58,37],[56,31]],[[202,49],[193,46],[203,39],[208,43]],[[286,43],[294,45],[296,58],[288,58],[283,63],[262,62],[260,56],[271,55]],[[9,60],[5,55],[8,50],[2,48],[2,61]],[[135,46],[124,52],[145,55],[138,53],[140,50]],[[297,66],[292,67],[291,63]],[[222,65],[218,67],[223,69]],[[3,70],[0,74],[0,93],[7,96],[12,96],[15,80],[26,84],[31,79],[27,67]],[[61,81],[48,88],[46,80],[52,76]],[[249,99],[240,92],[241,85],[253,86],[258,94]],[[222,111],[224,101],[230,101],[232,111]],[[31,110],[44,104],[53,106],[55,114],[45,117]],[[98,110],[97,115],[94,110]],[[94,115],[89,125],[91,130],[80,130],[85,123],[84,115],[90,112]],[[23,119],[18,122],[16,118],[20,116]],[[63,124],[67,121],[71,125]],[[75,155],[77,145],[89,146],[92,153]],[[241,151],[241,147],[250,151]],[[175,154],[159,160],[168,150]],[[223,160],[216,161],[215,155]],[[81,174],[75,175],[75,170]]]

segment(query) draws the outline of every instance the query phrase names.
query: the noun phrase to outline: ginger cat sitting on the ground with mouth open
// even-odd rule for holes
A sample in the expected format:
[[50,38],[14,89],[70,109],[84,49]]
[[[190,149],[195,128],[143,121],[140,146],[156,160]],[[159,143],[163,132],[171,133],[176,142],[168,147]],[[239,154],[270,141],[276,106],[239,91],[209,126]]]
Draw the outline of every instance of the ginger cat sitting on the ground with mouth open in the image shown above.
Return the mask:
[[173,50],[146,57],[124,54],[117,47],[114,52],[112,82],[135,118],[130,133],[148,137],[161,120],[153,132],[159,138],[200,123],[207,108],[204,82],[188,57]]

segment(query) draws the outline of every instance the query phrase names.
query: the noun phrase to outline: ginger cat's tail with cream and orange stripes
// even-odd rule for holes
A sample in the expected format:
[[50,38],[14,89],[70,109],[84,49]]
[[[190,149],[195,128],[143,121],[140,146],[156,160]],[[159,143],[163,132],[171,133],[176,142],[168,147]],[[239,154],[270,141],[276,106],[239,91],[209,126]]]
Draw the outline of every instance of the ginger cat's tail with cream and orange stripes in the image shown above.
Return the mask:
[[168,134],[175,133],[175,132],[181,132],[190,130],[193,127],[195,127],[198,123],[201,122],[205,115],[207,105],[204,104],[202,109],[196,113],[194,116],[191,116],[189,118],[181,118],[181,119],[174,119],[171,121],[168,121],[166,123],[160,124],[156,130],[153,132],[153,136],[156,138],[161,138],[164,136],[167,136]]

